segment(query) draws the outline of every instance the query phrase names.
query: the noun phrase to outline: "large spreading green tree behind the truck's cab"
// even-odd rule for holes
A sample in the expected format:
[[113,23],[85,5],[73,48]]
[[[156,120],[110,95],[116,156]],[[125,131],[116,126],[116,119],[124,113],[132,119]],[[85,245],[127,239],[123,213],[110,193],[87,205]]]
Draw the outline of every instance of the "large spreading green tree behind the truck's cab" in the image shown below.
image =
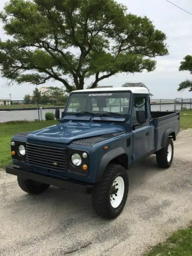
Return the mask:
[[17,83],[58,80],[68,92],[120,72],[153,71],[166,35],[115,0],[10,0],[0,14],[1,75]]

